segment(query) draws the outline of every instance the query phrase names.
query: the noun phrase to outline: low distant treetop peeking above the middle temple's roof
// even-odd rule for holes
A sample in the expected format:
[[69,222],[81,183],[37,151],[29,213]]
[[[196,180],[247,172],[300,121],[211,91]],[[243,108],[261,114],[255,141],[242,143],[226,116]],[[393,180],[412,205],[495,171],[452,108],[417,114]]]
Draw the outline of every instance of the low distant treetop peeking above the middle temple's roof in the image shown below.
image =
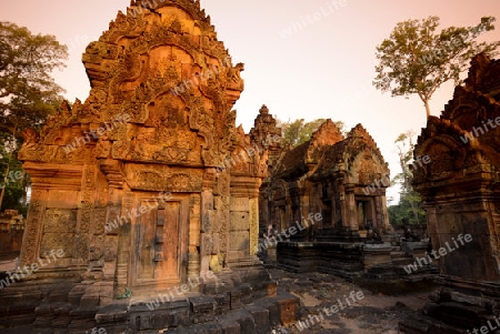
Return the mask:
[[[283,143],[287,145],[298,146],[311,139],[311,135],[319,126],[324,123],[326,119],[316,119],[310,122],[304,122],[303,119],[282,122],[278,120],[278,128],[281,128],[283,135]],[[343,122],[334,122],[340,131],[343,129]]]

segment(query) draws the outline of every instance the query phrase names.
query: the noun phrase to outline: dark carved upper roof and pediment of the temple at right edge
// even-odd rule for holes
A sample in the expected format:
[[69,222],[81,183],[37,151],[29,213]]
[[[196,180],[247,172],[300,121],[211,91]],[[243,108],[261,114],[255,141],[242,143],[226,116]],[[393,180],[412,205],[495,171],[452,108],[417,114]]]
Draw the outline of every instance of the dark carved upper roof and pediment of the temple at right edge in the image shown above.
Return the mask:
[[413,184],[460,179],[500,164],[499,73],[500,62],[482,53],[471,61],[466,84],[456,88],[441,117],[430,117],[418,138],[414,156],[429,155],[432,162],[416,170]]

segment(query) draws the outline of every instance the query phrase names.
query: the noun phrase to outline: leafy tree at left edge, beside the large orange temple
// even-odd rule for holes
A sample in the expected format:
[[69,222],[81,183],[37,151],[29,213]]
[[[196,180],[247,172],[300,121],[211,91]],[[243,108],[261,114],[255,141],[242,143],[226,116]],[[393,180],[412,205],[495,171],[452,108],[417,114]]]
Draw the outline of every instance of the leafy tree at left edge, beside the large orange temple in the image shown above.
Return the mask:
[[62,89],[51,72],[63,67],[67,58],[68,48],[53,36],[32,34],[24,27],[0,22],[0,136],[8,143],[1,148],[7,161],[0,208],[21,133],[27,128],[39,129],[62,101]]

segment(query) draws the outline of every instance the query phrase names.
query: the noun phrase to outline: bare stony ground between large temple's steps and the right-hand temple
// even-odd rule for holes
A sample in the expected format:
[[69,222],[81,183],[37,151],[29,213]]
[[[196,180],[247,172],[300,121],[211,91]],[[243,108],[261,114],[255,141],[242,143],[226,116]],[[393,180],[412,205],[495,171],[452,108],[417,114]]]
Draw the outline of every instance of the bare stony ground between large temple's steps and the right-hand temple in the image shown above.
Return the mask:
[[[270,273],[280,287],[300,298],[301,306],[300,323],[273,328],[272,334],[397,334],[399,321],[420,312],[434,289],[420,286],[416,292],[388,295],[321,273],[294,274],[277,269],[270,270]],[[357,295],[361,296],[359,292],[362,292],[362,297],[357,298]],[[350,295],[353,297],[350,298]],[[336,310],[332,306],[339,306],[339,301],[344,308],[338,307],[339,311],[332,313]],[[324,307],[329,308],[324,311]]]

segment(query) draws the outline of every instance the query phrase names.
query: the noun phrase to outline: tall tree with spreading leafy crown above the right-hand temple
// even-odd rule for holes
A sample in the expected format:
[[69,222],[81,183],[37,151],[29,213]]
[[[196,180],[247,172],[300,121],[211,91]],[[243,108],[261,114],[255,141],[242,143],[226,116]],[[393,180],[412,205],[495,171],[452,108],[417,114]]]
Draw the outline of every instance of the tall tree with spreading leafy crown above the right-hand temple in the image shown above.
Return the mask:
[[430,117],[429,101],[444,82],[460,84],[473,55],[486,52],[493,57],[499,41],[487,43],[476,39],[494,29],[493,17],[481,18],[476,27],[450,27],[437,32],[438,17],[399,22],[389,39],[377,47],[377,77],[373,85],[392,97],[418,94]]

